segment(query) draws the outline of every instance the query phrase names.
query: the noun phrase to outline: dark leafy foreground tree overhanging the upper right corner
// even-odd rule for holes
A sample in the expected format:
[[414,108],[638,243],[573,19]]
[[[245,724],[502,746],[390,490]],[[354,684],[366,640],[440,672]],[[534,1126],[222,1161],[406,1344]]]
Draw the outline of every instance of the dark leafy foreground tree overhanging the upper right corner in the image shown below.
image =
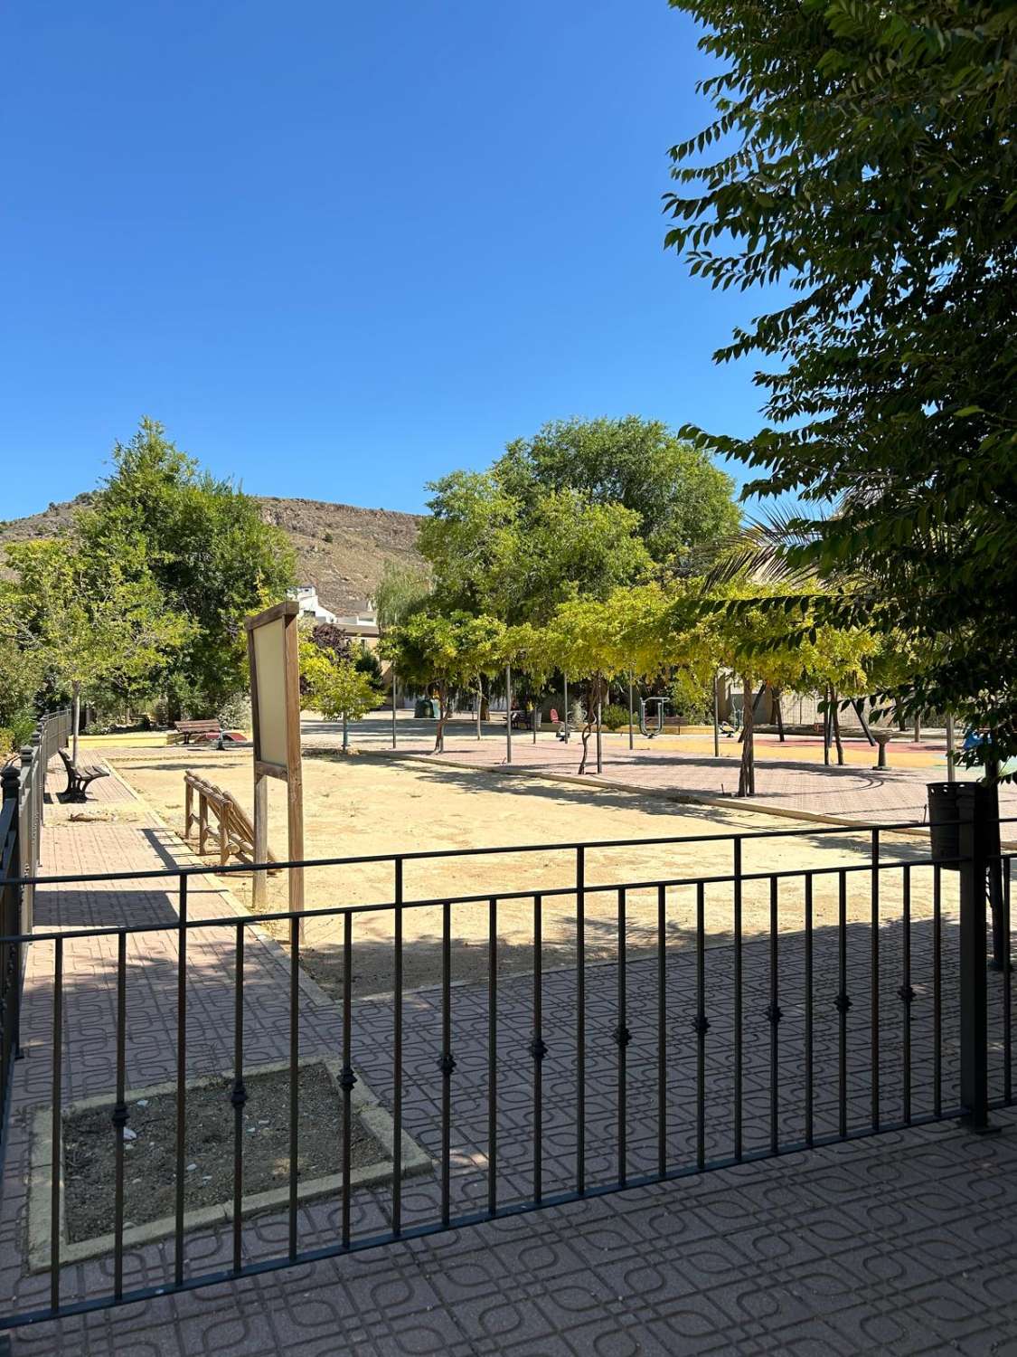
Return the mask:
[[671,4],[721,69],[715,119],[673,151],[667,243],[715,288],[791,289],[716,354],[766,361],[767,426],[689,433],[761,470],[747,493],[804,502],[761,527],[757,570],[776,550],[831,586],[827,619],[926,643],[903,710],[1012,754],[1017,5]]

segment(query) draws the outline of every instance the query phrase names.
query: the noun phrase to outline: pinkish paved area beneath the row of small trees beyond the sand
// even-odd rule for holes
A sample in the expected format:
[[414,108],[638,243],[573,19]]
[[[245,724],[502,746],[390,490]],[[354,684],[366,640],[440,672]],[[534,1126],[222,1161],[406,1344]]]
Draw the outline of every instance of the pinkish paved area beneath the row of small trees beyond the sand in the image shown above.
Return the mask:
[[[477,740],[476,727],[466,719],[447,725],[445,753],[434,754],[437,763],[465,764],[468,767],[509,771],[504,726],[484,727],[484,738]],[[304,742],[309,748],[335,748],[342,740],[340,727],[328,722],[304,721]],[[351,740],[357,748],[378,753],[392,752],[391,714],[374,712],[353,726]],[[397,752],[430,754],[434,748],[434,722],[401,718],[397,727]],[[800,754],[795,757],[796,752]],[[910,767],[873,768],[875,752],[864,741],[852,745],[850,761],[829,768],[816,760],[814,740],[793,738],[781,748],[763,744],[758,737],[755,767],[757,794],[751,805],[766,810],[805,811],[853,820],[923,820],[928,814],[926,786],[946,779],[945,752],[936,753],[928,746],[907,745]],[[921,759],[922,753],[928,759]],[[805,757],[808,754],[810,757]],[[891,745],[891,764],[895,746]],[[667,792],[671,795],[720,798],[738,790],[738,759],[740,749],[735,741],[721,741],[721,757],[704,752],[700,735],[664,737],[662,741],[636,740],[629,750],[628,735],[603,737],[603,772],[599,783]],[[582,744],[574,735],[568,744],[553,733],[540,733],[537,741],[529,731],[513,735],[511,771],[575,776],[582,757]],[[925,767],[914,765],[925,763]],[[590,740],[589,768],[595,769],[595,740]],[[959,771],[965,778],[965,769]],[[594,780],[591,778],[591,780]],[[747,802],[740,802],[746,805]],[[1001,790],[1001,813],[1017,816],[1017,787]]]

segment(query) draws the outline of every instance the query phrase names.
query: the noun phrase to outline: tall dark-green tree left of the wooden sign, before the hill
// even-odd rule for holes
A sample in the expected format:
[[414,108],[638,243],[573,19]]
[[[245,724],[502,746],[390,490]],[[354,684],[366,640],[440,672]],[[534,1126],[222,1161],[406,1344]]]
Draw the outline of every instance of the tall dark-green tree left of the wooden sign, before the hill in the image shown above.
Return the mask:
[[243,619],[294,582],[293,551],[281,529],[231,480],[180,452],[153,419],[113,449],[114,474],[79,516],[85,552],[111,540],[144,548],[146,570],[191,635],[168,676],[176,699],[214,712],[247,684]]

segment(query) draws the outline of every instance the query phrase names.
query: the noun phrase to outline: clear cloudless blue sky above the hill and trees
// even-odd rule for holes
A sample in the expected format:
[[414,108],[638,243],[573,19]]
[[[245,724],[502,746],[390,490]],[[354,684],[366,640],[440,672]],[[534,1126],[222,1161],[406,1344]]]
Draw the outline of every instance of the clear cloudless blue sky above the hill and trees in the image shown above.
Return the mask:
[[570,415],[758,422],[759,296],[662,250],[666,0],[0,9],[0,518],[142,414],[259,494],[420,509]]

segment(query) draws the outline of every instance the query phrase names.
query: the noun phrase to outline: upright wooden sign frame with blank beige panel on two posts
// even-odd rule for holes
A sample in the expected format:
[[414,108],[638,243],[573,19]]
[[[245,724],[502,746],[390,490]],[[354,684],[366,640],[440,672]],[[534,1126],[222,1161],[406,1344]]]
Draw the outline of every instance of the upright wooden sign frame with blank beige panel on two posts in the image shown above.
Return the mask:
[[[251,670],[251,725],[254,734],[254,855],[255,862],[268,860],[268,783],[267,778],[279,778],[286,783],[286,826],[289,830],[287,859],[300,862],[304,858],[304,772],[300,760],[300,632],[297,623],[300,605],[293,598],[277,603],[255,617],[244,619],[247,631],[247,662]],[[262,721],[259,704],[259,665],[270,664],[266,651],[259,657],[256,632],[262,628],[282,624],[282,674],[262,673],[262,696],[271,688],[278,696],[282,711],[273,712],[273,722],[282,718],[283,735],[279,740],[278,727]],[[267,634],[262,631],[262,635]],[[266,729],[267,727],[267,729]],[[268,745],[268,748],[263,748]],[[270,754],[271,757],[266,757]],[[266,874],[254,874],[254,905],[264,904]],[[292,911],[304,909],[304,868],[289,868],[289,905]]]

